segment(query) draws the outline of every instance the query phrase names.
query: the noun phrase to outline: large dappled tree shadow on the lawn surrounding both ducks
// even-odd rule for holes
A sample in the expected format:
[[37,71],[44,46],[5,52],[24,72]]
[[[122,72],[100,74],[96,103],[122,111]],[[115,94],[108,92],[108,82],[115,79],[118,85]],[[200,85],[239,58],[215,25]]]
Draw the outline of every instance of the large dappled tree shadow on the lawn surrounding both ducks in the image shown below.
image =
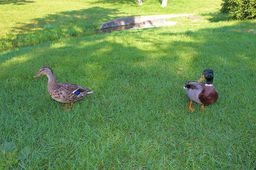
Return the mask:
[[[84,162],[92,163],[82,166],[97,169],[163,169],[170,164],[250,169],[255,159],[256,38],[252,32],[237,32],[250,27],[255,24],[177,33],[113,32],[8,52],[0,58],[0,136],[15,136],[15,143],[34,152],[44,148],[46,156],[35,155],[36,164],[27,162],[31,167],[74,168],[77,157],[86,157]],[[6,56],[12,59],[3,60]],[[62,105],[47,94],[47,78],[32,78],[47,65],[58,81],[78,83],[95,93],[77,101],[72,114],[63,114],[58,110]],[[208,67],[214,70],[220,99],[210,111],[191,113],[182,85]],[[16,127],[27,134],[19,134]],[[49,163],[48,155],[62,159]]]

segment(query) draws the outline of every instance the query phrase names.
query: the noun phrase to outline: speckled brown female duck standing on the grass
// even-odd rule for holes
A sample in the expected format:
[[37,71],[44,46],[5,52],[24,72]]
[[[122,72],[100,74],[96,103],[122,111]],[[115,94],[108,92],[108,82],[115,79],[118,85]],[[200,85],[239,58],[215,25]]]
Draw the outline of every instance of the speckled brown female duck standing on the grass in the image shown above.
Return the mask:
[[[82,99],[86,94],[92,94],[93,91],[71,83],[58,83],[53,71],[50,67],[41,67],[39,72],[34,76],[38,77],[45,74],[48,77],[47,90],[55,101],[60,103],[71,103],[70,108],[73,108],[74,101]],[[66,110],[67,111],[67,110]]]

